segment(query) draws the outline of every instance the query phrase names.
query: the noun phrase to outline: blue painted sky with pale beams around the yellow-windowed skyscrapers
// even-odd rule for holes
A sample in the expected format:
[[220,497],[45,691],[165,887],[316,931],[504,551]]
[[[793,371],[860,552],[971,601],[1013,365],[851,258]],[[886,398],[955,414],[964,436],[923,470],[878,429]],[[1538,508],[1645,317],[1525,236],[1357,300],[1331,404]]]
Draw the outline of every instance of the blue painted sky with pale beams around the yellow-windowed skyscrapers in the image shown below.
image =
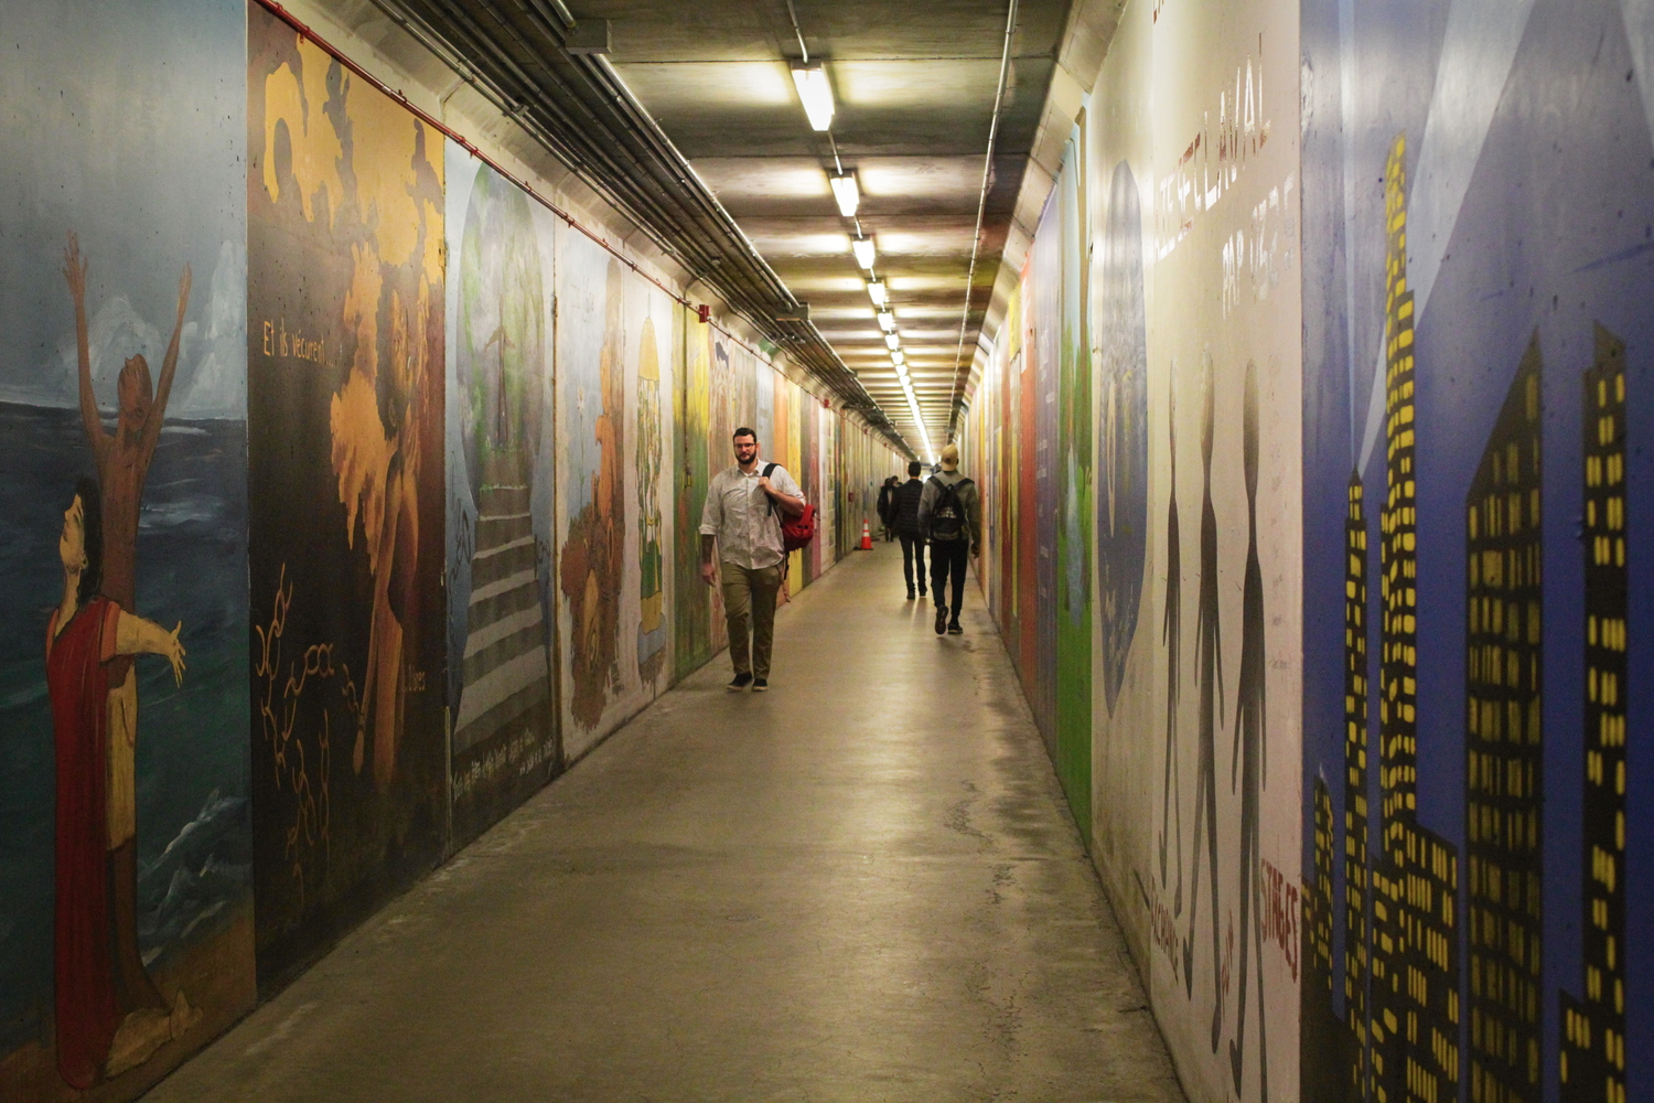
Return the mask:
[[[1305,56],[1305,749],[1341,824],[1345,485],[1361,465],[1378,600],[1384,483],[1383,177],[1406,134],[1408,278],[1417,306],[1419,820],[1465,847],[1465,496],[1530,339],[1543,356],[1545,1098],[1556,1098],[1556,992],[1578,992],[1585,696],[1581,377],[1594,326],[1628,349],[1632,670],[1654,630],[1639,531],[1654,523],[1654,142],[1639,61],[1642,0],[1624,5],[1303,5]],[[1628,26],[1637,30],[1628,38]],[[1637,45],[1632,45],[1632,43]],[[1452,78],[1446,76],[1452,73]],[[1651,74],[1654,78],[1654,74]],[[1348,319],[1348,322],[1346,322]],[[1641,650],[1637,640],[1641,637]],[[1370,643],[1376,655],[1376,637]],[[1373,660],[1376,673],[1376,658]],[[1373,680],[1376,691],[1378,681]],[[1654,704],[1632,676],[1629,708]],[[1376,716],[1374,752],[1376,752]],[[1637,721],[1632,721],[1634,724]],[[1376,771],[1374,771],[1376,772]],[[1651,771],[1632,747],[1628,943],[1647,944]],[[1376,777],[1373,779],[1376,785]],[[1639,800],[1641,797],[1641,800]],[[1376,802],[1374,802],[1376,807]],[[1308,833],[1307,833],[1308,838]],[[1308,842],[1307,842],[1308,845]],[[1340,867],[1341,868],[1341,867]],[[1341,901],[1340,888],[1335,900]],[[1340,905],[1341,908],[1341,905]],[[1341,924],[1341,923],[1340,923]],[[1335,961],[1341,956],[1341,946]],[[1628,959],[1632,992],[1651,966]],[[1464,961],[1464,959],[1460,959]],[[1654,1022],[1632,1002],[1631,1085]]]

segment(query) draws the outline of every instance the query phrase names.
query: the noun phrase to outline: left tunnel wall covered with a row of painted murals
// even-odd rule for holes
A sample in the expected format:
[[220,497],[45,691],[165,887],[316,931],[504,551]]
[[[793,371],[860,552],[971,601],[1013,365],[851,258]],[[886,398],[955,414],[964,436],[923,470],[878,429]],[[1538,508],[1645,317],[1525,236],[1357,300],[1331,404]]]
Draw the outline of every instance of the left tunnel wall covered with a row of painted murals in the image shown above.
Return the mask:
[[802,392],[261,5],[0,38],[0,1100],[124,1100],[710,657]]

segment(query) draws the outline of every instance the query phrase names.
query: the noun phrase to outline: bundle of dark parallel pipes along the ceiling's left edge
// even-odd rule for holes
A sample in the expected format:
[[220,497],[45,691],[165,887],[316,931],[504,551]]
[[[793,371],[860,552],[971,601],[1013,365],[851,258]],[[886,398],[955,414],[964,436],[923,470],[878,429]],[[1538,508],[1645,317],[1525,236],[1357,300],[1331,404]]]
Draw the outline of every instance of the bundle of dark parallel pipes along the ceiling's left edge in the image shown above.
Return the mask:
[[602,55],[566,50],[576,20],[559,0],[374,0],[501,114],[633,220],[766,339],[898,451],[906,442],[814,324],[781,324],[799,299],[695,175]]

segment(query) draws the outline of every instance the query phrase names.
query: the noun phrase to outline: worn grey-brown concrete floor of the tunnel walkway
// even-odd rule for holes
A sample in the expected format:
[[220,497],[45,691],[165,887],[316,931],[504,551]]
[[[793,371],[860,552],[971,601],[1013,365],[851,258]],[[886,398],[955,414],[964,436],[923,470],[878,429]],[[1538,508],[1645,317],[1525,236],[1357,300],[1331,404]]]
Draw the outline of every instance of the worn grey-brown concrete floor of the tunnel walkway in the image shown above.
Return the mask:
[[855,554],[147,1096],[1181,1101],[974,585]]

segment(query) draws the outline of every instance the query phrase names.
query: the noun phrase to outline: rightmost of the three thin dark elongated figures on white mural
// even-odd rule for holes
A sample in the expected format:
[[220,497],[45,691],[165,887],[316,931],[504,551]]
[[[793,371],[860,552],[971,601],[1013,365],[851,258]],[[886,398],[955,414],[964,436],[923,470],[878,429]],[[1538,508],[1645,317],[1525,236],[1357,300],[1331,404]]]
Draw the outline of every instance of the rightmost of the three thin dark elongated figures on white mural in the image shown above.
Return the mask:
[[1245,407],[1240,415],[1245,466],[1245,580],[1240,587],[1240,676],[1236,693],[1236,734],[1229,754],[1229,789],[1240,785],[1240,987],[1236,991],[1236,1037],[1229,1042],[1229,1070],[1236,1095],[1245,1052],[1247,951],[1257,946],[1257,1075],[1259,1098],[1269,1100],[1269,1045],[1264,1017],[1264,893],[1259,858],[1259,817],[1264,772],[1269,767],[1269,728],[1264,719],[1264,569],[1257,559],[1257,364],[1245,365]]

